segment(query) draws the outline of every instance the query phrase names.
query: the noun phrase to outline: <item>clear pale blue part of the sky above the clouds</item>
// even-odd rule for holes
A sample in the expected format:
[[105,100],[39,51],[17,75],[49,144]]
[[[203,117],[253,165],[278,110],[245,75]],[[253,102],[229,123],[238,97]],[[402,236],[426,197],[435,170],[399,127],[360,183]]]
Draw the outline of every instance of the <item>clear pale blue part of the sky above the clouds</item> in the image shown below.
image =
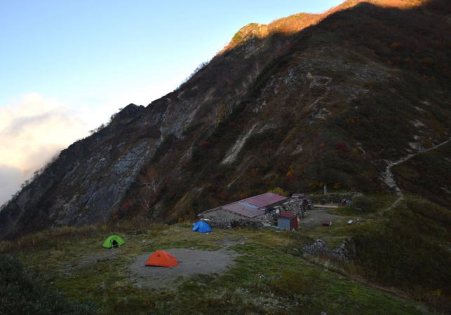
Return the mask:
[[1,0],[0,106],[30,92],[101,102],[103,93],[135,85],[148,87],[149,103],[243,25],[340,2]]

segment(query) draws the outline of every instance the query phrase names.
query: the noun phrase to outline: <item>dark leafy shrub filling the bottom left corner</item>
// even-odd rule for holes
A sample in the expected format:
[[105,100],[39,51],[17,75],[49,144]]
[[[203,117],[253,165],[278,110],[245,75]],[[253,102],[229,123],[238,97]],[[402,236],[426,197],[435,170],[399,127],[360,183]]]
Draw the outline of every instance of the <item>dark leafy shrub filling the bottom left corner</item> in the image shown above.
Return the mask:
[[0,314],[93,314],[90,305],[69,302],[20,260],[0,255]]

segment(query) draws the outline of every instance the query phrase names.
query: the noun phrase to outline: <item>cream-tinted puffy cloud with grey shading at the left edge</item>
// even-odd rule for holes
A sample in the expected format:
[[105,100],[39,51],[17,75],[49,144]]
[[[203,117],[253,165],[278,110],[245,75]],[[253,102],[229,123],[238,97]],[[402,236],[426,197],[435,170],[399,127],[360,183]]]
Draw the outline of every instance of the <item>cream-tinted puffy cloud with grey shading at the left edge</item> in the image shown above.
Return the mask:
[[72,142],[86,123],[55,99],[25,94],[0,108],[0,204]]

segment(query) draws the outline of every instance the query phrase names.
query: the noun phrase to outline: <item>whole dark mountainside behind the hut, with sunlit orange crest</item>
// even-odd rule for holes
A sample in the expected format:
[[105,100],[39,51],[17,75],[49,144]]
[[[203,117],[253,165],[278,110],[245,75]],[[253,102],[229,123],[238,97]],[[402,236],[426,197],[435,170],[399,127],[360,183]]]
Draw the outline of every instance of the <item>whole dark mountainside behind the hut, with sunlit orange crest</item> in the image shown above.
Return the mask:
[[450,137],[450,10],[357,2],[243,27],[180,88],[62,151],[1,210],[0,237],[194,218],[275,187],[389,189],[387,162]]

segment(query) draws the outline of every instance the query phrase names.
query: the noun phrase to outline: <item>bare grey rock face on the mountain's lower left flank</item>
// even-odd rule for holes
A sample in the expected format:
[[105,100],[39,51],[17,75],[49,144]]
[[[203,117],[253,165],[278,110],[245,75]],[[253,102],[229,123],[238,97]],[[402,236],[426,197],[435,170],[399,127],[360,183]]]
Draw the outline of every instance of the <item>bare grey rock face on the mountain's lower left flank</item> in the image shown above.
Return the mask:
[[130,104],[108,127],[62,151],[0,212],[0,237],[108,218],[152,154],[155,142],[147,139],[115,144],[114,132],[144,111],[143,106]]

